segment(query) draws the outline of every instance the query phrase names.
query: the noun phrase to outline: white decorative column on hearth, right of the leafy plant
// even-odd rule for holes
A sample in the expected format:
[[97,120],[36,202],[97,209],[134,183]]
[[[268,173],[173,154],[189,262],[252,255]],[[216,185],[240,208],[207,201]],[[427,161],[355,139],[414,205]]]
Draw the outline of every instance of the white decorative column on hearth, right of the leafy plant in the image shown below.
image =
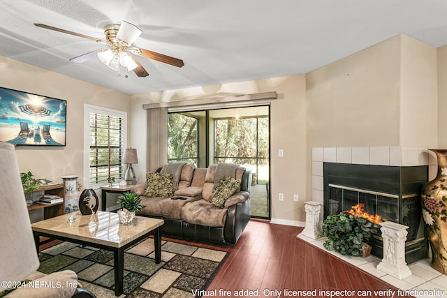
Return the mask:
[[406,225],[385,221],[381,223],[383,238],[383,259],[377,269],[395,278],[404,279],[411,276],[411,270],[405,262]]

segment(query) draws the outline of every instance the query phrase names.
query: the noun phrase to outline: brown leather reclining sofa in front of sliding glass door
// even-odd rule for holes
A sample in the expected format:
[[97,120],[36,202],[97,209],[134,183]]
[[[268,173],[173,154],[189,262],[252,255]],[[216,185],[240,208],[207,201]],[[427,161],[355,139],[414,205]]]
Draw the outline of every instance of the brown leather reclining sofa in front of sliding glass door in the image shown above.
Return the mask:
[[[165,165],[160,173],[167,170],[168,166]],[[137,215],[163,218],[163,234],[166,235],[235,244],[250,220],[251,171],[230,163],[207,168],[184,164],[181,171],[177,170],[178,181],[175,171],[173,176],[177,187],[170,198],[145,197],[146,184],[133,188],[133,192],[142,195],[141,204],[145,206]],[[220,208],[210,202],[210,198],[224,176],[240,179],[241,184],[240,189]]]

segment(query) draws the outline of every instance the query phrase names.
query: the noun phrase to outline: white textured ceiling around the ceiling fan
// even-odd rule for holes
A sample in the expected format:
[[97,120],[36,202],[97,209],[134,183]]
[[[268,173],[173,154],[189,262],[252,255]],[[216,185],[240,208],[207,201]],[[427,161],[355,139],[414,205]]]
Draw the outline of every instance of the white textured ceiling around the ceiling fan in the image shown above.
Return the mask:
[[[104,25],[122,20],[142,29],[136,46],[184,67],[138,57],[149,76],[119,77],[96,57],[69,61],[100,44],[33,25],[103,39]],[[447,44],[447,1],[0,1],[1,56],[126,94],[307,73],[399,33]]]

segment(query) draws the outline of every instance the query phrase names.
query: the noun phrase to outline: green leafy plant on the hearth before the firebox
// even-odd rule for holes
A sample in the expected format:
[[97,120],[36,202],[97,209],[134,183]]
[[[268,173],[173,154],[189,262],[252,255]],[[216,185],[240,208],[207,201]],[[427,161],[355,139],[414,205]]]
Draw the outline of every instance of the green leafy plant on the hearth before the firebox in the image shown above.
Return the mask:
[[323,221],[323,236],[328,237],[323,246],[342,255],[360,256],[363,242],[378,232],[378,226],[365,218],[340,212]]

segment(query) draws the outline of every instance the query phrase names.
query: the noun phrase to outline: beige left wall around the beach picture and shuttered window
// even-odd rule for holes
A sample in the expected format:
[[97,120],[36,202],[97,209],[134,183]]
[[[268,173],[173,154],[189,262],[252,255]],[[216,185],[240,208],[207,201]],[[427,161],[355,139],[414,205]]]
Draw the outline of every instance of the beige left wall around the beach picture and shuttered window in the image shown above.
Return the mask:
[[129,96],[6,57],[0,57],[0,81],[1,87],[67,100],[66,147],[16,147],[20,171],[59,183],[77,174],[84,184],[84,104],[129,112]]

